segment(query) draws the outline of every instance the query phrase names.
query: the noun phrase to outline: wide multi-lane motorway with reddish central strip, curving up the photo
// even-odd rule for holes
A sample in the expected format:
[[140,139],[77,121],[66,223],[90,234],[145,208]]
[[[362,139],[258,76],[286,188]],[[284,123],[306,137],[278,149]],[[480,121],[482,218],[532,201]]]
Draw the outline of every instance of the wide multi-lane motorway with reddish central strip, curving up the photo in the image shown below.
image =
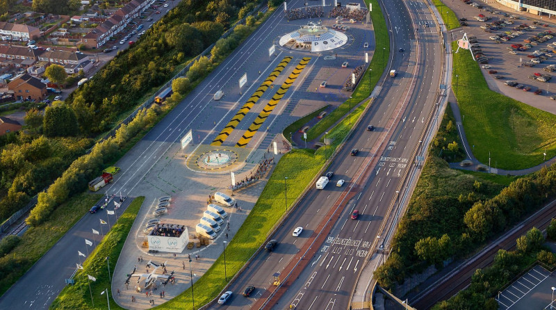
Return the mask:
[[[442,72],[440,38],[425,3],[406,7],[402,1],[388,1],[386,14],[393,42],[387,71],[397,70],[398,76],[384,78],[361,126],[327,169],[336,174],[331,184],[325,190],[311,189],[272,236],[279,240],[275,250],[259,252],[227,288],[240,294],[245,286],[256,286],[252,297],[234,295],[227,308],[347,308],[357,272],[384,231],[383,220],[435,109]],[[375,131],[366,131],[367,124]],[[349,155],[352,148],[360,149],[357,156]],[[338,179],[347,186],[336,188]],[[350,220],[354,209],[361,213],[358,220]],[[304,227],[300,237],[291,236],[295,227]],[[270,300],[275,272],[285,283]]]

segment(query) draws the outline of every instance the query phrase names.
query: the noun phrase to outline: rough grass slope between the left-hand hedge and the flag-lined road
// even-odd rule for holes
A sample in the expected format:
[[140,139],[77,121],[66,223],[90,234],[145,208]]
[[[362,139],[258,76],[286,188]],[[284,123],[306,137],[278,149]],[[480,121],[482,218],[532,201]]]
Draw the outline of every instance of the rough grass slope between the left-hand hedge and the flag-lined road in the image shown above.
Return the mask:
[[37,227],[29,227],[19,245],[0,259],[0,274],[3,274],[0,277],[0,295],[6,293],[101,197],[88,193],[76,195],[56,209],[50,220]]

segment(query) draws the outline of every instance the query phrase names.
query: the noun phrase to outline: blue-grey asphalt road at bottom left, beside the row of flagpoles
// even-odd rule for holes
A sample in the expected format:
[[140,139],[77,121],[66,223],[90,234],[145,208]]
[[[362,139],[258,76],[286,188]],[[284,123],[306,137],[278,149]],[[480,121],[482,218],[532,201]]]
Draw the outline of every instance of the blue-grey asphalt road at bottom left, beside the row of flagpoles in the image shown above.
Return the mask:
[[[119,202],[120,197],[115,197]],[[48,309],[56,296],[62,291],[65,279],[70,279],[76,270],[76,263],[83,263],[99,244],[101,238],[108,231],[108,224],[101,225],[100,220],[115,223],[115,215],[107,215],[106,210],[115,211],[122,215],[133,199],[126,199],[120,209],[115,210],[112,200],[104,210],[95,214],[88,213],[76,222],[67,233],[29,269],[23,277],[0,297],[0,309]],[[101,199],[99,203],[103,203]],[[107,218],[107,217],[110,218]],[[99,231],[93,234],[92,229]],[[86,245],[85,239],[93,242]],[[79,252],[78,252],[79,251]],[[113,270],[117,257],[109,260]],[[108,266],[107,266],[108,267]],[[108,269],[106,269],[108,272]]]

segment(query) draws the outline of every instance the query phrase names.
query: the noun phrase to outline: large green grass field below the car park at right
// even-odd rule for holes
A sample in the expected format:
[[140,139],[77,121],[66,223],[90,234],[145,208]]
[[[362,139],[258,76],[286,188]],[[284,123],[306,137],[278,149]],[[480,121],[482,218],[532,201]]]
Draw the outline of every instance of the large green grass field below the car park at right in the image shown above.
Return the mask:
[[469,51],[454,54],[452,89],[469,145],[482,163],[489,163],[490,152],[492,167],[518,170],[542,163],[545,149],[547,159],[556,156],[556,115],[490,90]]

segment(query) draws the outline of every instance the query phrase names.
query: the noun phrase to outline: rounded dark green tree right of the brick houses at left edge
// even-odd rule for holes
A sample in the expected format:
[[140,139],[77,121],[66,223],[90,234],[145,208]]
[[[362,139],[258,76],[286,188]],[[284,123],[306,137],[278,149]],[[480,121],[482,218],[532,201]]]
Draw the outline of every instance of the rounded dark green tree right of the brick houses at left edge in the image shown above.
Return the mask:
[[77,117],[68,106],[49,106],[44,110],[44,134],[49,137],[75,136],[79,133]]

